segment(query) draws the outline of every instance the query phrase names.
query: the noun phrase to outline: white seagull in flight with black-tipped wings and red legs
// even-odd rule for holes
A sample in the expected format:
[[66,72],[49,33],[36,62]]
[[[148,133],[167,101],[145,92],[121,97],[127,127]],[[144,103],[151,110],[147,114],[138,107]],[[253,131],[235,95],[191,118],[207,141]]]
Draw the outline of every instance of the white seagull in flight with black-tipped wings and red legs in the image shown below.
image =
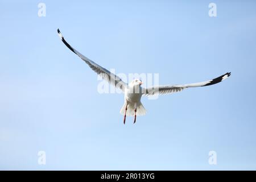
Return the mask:
[[109,84],[115,86],[115,88],[122,90],[122,92],[125,95],[125,103],[123,104],[120,110],[120,113],[123,115],[123,124],[125,124],[126,115],[127,116],[134,115],[134,123],[135,123],[137,115],[146,114],[146,109],[141,103],[142,96],[166,95],[166,94],[180,92],[181,90],[184,90],[186,88],[214,85],[214,84],[217,84],[218,82],[225,80],[231,74],[230,72],[228,72],[212,80],[196,82],[193,84],[157,85],[157,86],[152,86],[150,88],[142,88],[141,85],[143,83],[138,78],[134,79],[129,84],[127,84],[126,82],[122,81],[121,78],[119,78],[118,76],[108,71],[108,69],[105,69],[100,65],[98,65],[97,63],[94,63],[92,60],[88,59],[88,57],[85,57],[80,52],[78,52],[75,48],[71,47],[64,39],[59,28],[57,29],[57,33],[60,39],[62,40],[62,42],[69,49],[71,49],[72,52],[74,52],[77,56],[79,56],[82,60],[84,60],[85,63],[88,64],[89,67],[94,72],[96,72],[98,75],[100,75],[103,78],[103,80],[109,82]]

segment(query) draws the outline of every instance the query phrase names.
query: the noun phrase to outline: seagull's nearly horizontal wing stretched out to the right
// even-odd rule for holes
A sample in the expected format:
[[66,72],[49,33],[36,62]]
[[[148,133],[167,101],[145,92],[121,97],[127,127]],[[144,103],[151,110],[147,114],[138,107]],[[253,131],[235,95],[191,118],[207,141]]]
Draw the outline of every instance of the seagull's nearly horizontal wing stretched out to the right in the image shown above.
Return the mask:
[[143,90],[143,95],[144,96],[165,95],[165,94],[180,92],[181,90],[183,90],[185,88],[189,88],[189,87],[209,86],[209,85],[217,84],[218,82],[225,80],[230,75],[231,75],[231,73],[229,72],[229,73],[221,75],[217,78],[214,78],[212,80],[197,82],[194,84],[153,86],[151,88],[146,88],[146,90]]

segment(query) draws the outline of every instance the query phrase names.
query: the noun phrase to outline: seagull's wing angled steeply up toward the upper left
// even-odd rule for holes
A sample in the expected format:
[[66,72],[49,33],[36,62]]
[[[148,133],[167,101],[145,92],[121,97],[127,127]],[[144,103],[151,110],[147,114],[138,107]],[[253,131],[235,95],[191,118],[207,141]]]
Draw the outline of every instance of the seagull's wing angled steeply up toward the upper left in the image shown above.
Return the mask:
[[108,69],[105,69],[101,67],[100,65],[94,63],[92,60],[88,59],[84,55],[82,55],[80,52],[76,51],[73,47],[71,47],[66,40],[63,38],[63,35],[61,34],[59,28],[57,29],[57,32],[60,36],[60,39],[62,42],[69,48],[71,49],[72,52],[74,52],[77,56],[79,56],[82,60],[85,61],[86,64],[89,65],[90,68],[94,72],[96,72],[98,75],[100,75],[104,80],[108,81],[110,84],[114,85],[116,88],[121,89],[123,92],[125,92],[125,88],[127,87],[126,82],[122,81],[121,78],[118,76],[114,75],[114,73],[111,73],[108,71]]

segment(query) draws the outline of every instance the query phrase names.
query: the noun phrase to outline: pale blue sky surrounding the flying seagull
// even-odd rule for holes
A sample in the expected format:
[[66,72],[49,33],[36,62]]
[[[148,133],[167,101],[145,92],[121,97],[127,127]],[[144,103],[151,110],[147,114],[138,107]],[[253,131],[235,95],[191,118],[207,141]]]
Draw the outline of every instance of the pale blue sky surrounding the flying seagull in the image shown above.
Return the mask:
[[[46,3],[39,18],[38,3]],[[217,17],[208,5],[217,5]],[[2,1],[0,169],[256,169],[255,1]],[[117,73],[160,84],[220,84],[143,98],[122,123],[122,94],[60,41]],[[38,165],[38,151],[46,165]],[[217,165],[208,152],[217,152]]]

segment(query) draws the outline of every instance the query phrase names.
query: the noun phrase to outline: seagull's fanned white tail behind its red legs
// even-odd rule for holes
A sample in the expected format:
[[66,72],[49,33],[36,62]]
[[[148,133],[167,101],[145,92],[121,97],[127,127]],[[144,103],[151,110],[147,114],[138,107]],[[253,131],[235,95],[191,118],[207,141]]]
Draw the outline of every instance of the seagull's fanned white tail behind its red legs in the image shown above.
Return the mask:
[[[126,107],[126,103],[123,104],[123,106],[122,106],[122,108],[120,110],[120,113],[122,115],[125,115],[125,107]],[[141,104],[141,102],[139,102],[138,104],[132,104],[130,102],[127,102],[126,115],[127,116],[133,116],[135,114],[135,109],[136,108],[137,108],[136,115],[145,115],[147,113],[146,109]]]

